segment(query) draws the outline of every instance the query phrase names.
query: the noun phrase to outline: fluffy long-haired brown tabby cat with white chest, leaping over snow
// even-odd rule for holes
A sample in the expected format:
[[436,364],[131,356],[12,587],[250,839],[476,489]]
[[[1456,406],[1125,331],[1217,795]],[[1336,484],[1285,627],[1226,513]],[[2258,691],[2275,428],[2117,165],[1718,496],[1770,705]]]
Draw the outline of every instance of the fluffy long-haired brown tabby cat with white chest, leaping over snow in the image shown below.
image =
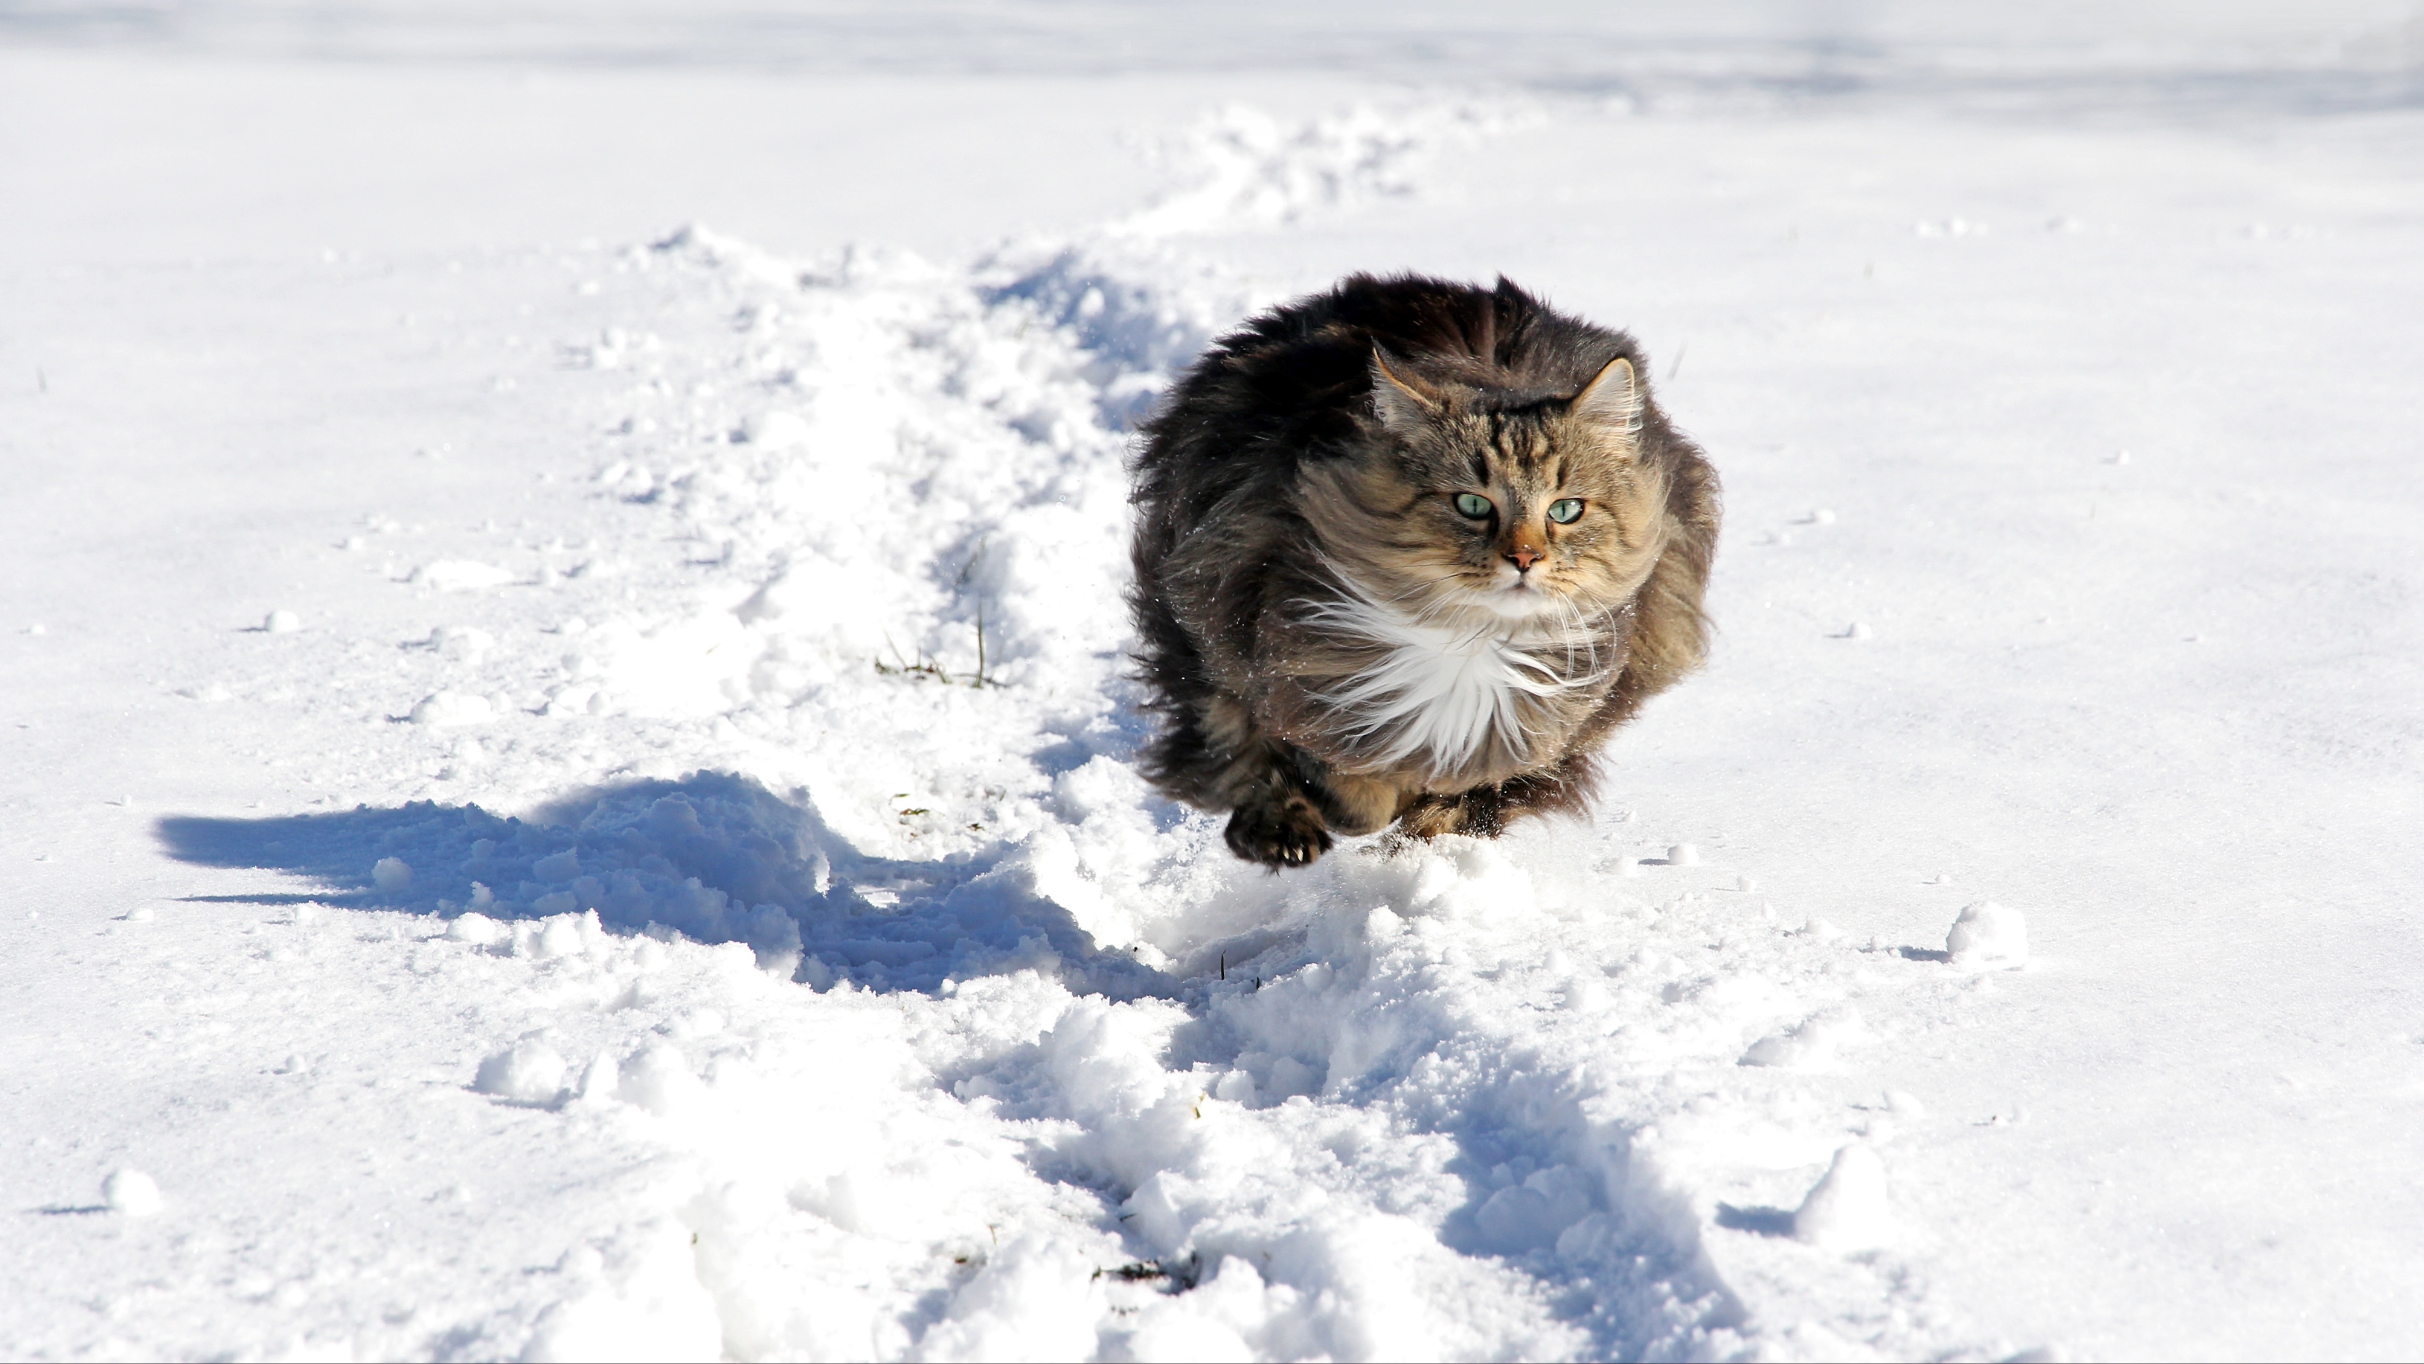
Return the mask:
[[1496,836],[1706,652],[1719,487],[1624,332],[1340,281],[1212,344],[1134,463],[1147,775],[1229,848]]

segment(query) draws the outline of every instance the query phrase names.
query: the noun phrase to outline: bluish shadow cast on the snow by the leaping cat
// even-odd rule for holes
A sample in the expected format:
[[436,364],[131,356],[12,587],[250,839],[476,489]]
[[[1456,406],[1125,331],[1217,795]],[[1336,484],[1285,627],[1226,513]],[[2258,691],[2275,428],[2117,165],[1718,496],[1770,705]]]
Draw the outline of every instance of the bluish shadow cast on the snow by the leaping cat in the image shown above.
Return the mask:
[[1103,947],[1045,896],[1013,848],[936,860],[861,853],[802,790],[734,773],[565,792],[531,819],[412,802],[267,819],[165,816],[179,862],[303,877],[322,889],[194,901],[330,904],[429,918],[596,911],[608,933],[749,942],[795,979],[877,991],[1042,969],[1071,991],[1137,998],[1176,981]]

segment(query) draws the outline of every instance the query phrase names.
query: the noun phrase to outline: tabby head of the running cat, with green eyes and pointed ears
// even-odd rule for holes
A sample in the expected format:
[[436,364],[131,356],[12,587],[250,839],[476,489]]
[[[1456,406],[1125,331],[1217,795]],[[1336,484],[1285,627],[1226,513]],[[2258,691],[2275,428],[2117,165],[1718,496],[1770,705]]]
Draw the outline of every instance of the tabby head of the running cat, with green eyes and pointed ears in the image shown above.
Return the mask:
[[1307,470],[1304,514],[1338,569],[1425,615],[1610,611],[1665,545],[1641,407],[1622,356],[1544,397],[1423,378],[1374,349],[1367,439]]

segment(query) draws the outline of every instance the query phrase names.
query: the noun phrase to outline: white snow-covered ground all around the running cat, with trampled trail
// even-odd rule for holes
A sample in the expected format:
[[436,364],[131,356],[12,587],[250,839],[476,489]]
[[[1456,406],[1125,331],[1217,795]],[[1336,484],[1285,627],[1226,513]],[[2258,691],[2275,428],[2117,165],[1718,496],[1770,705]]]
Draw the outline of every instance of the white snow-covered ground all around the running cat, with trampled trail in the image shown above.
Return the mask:
[[[0,1352],[2424,1349],[2395,7],[2048,10],[1983,85],[1881,7],[1845,97],[1522,90],[1580,19],[1464,92],[1423,7],[1004,7],[982,78],[61,15],[0,7]],[[1721,647],[1593,824],[1270,877],[1127,766],[1125,422],[1396,267],[1643,337]]]

